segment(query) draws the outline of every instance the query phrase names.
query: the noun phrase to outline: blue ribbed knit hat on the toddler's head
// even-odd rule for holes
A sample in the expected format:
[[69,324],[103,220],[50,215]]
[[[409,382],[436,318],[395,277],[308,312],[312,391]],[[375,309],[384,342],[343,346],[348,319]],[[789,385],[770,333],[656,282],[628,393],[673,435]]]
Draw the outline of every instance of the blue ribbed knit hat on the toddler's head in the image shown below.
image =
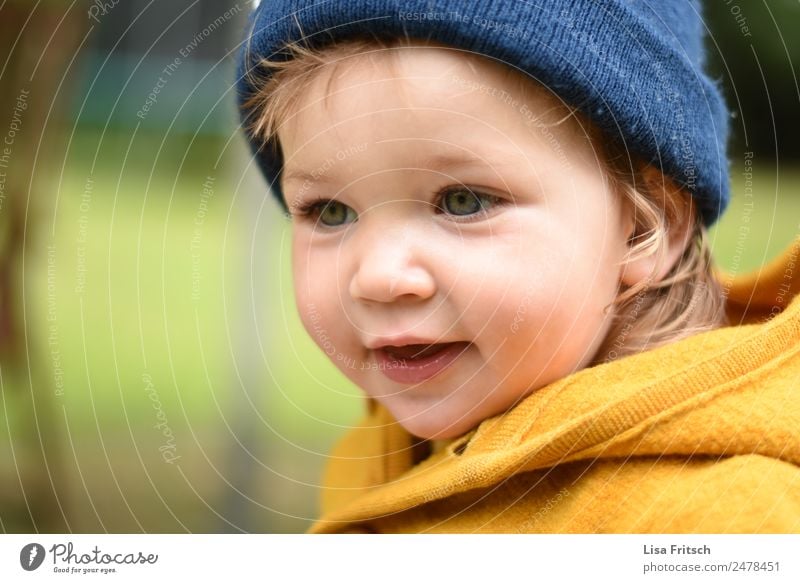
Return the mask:
[[[364,37],[438,41],[528,73],[577,107],[610,139],[695,197],[706,225],[729,201],[728,114],[704,73],[704,22],[692,0],[265,0],[239,54],[238,98],[255,88],[260,58],[287,42],[323,47]],[[286,208],[278,149],[250,144]]]

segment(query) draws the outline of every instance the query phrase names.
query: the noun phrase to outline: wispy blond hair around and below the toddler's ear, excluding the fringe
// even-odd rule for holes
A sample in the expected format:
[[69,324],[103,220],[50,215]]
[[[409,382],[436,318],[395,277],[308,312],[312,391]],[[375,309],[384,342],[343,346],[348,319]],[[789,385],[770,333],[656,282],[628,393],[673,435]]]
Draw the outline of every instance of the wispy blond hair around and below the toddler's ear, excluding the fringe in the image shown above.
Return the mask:
[[[622,147],[605,146],[606,170],[615,190],[632,205],[634,234],[624,262],[663,255],[670,229],[695,207],[668,177]],[[708,233],[699,212],[683,254],[660,281],[644,279],[614,300],[612,326],[594,364],[608,362],[728,324],[725,295],[713,275]]]

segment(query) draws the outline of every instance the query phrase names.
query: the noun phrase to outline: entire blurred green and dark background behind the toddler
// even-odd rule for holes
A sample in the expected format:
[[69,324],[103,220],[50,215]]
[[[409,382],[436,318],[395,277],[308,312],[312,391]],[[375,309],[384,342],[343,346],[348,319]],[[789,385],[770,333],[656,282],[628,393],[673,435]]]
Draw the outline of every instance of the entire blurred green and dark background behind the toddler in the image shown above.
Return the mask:
[[[733,202],[711,234],[744,272],[798,236],[800,5],[734,5],[707,11],[734,111]],[[249,9],[0,4],[0,131],[30,94],[0,207],[3,532],[300,532],[316,516],[361,398],[299,324],[288,224],[237,130]]]

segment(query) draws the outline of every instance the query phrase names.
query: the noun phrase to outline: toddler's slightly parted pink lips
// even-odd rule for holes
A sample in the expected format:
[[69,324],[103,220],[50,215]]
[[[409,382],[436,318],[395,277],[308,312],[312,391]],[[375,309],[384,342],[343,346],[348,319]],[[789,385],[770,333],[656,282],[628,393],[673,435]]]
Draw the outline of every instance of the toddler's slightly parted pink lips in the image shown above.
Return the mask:
[[446,342],[384,346],[375,350],[377,368],[395,382],[420,383],[450,366],[470,344]]

